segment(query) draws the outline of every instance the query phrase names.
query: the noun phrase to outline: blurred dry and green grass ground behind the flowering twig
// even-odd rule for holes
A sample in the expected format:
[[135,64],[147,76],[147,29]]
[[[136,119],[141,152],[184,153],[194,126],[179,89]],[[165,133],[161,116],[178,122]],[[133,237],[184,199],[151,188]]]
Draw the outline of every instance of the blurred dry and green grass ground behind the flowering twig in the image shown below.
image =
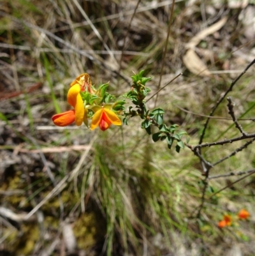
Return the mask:
[[[68,109],[68,85],[80,73],[93,84],[110,81],[119,96],[133,72],[152,76],[152,94],[182,72],[159,93],[157,107],[198,144],[205,116],[255,57],[254,21],[246,19],[254,19],[254,5],[216,2],[175,1],[163,59],[171,1],[0,1],[1,255],[252,255],[254,177],[233,185],[239,176],[210,180],[198,218],[204,176],[189,149],[177,154],[152,143],[135,118],[105,133],[57,128],[50,119]],[[187,69],[188,43],[224,17],[193,49],[205,66],[193,58],[199,72]],[[254,118],[253,66],[230,96],[238,118]],[[214,116],[227,118],[210,120],[204,142],[237,137],[226,105]],[[254,133],[254,122],[240,122]],[[214,163],[243,144],[202,152]],[[210,175],[253,168],[250,145]],[[235,220],[242,208],[249,221]],[[224,213],[235,221],[220,230]]]

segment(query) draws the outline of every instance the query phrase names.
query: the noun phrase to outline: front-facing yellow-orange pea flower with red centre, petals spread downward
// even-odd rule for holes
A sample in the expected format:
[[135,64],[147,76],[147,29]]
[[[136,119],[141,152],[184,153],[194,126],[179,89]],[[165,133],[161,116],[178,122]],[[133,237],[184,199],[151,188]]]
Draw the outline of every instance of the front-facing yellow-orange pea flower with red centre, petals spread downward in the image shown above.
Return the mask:
[[91,130],[99,126],[102,131],[105,131],[111,124],[121,125],[119,117],[112,110],[101,108],[92,117]]

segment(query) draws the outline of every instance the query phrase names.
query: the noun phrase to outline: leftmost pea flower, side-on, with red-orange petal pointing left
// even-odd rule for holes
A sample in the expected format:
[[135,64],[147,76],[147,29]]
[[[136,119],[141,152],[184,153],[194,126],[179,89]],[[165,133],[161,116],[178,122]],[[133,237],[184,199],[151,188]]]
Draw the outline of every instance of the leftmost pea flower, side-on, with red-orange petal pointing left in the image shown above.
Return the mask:
[[80,95],[80,84],[71,85],[68,91],[68,103],[74,108],[52,117],[52,121],[57,126],[67,126],[75,121],[77,126],[80,126],[84,121],[84,102]]

